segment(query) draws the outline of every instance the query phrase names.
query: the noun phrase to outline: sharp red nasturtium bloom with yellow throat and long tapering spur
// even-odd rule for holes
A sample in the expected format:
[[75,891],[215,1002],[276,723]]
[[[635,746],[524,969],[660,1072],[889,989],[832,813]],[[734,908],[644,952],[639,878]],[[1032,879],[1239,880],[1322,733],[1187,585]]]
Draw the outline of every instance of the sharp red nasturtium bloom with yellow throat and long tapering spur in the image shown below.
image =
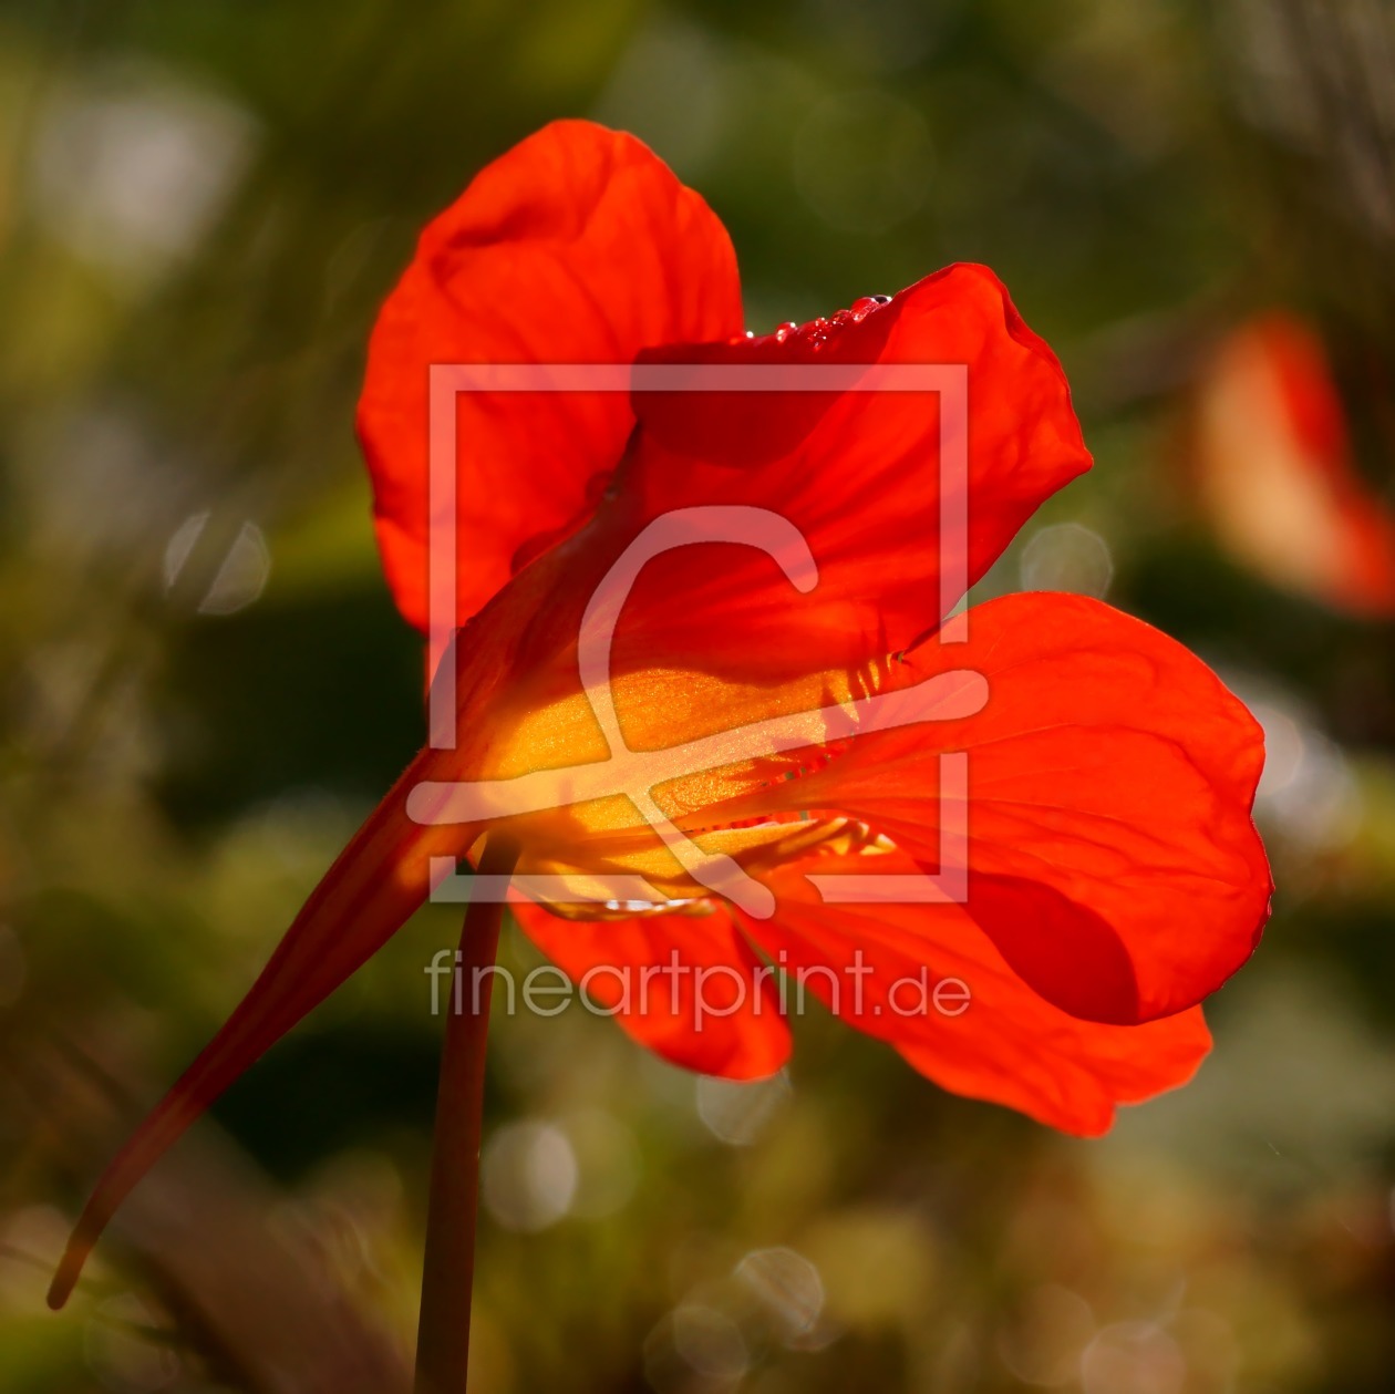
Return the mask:
[[[1007,596],[940,642],[942,575],[981,578],[1089,466],[1060,366],[990,272],[950,267],[753,338],[725,230],[639,141],[578,121],[523,141],[427,227],[370,345],[359,431],[378,541],[423,631],[438,522],[430,370],[453,363],[963,364],[967,497],[940,497],[932,394],[459,394],[460,629],[449,647],[449,634],[428,636],[431,668],[455,678],[455,745],[423,751],[113,1162],[60,1289],[151,1161],[425,900],[432,858],[477,855],[501,830],[520,876],[626,874],[656,887],[644,907],[516,906],[573,977],[677,953],[751,985],[702,1030],[692,977],[646,1010],[615,1003],[621,1026],[685,1066],[735,1079],[781,1066],[776,961],[826,970],[808,975],[810,991],[946,1088],[1069,1132],[1099,1133],[1117,1104],[1190,1077],[1209,1045],[1197,1003],[1250,956],[1268,914],[1250,816],[1261,735],[1198,659],[1094,600]],[[942,543],[949,505],[967,526]],[[785,519],[816,583],[792,585],[751,546],[656,555],[619,611],[608,691],[640,763],[678,752],[653,790],[663,816],[767,887],[774,913],[695,879],[625,790],[497,823],[418,822],[423,805],[449,805],[423,790],[612,754],[579,673],[586,607],[646,527],[693,508]],[[964,673],[986,700],[956,705]],[[710,754],[709,738],[737,727],[820,709],[855,719],[870,695],[936,674],[950,694],[937,720],[725,763]],[[703,763],[685,765],[704,741]],[[942,811],[965,802],[939,787],[944,754],[967,755],[965,901],[824,903],[810,872],[937,869]],[[857,956],[862,991],[830,992]],[[890,1000],[922,970],[963,982],[967,1007]]]

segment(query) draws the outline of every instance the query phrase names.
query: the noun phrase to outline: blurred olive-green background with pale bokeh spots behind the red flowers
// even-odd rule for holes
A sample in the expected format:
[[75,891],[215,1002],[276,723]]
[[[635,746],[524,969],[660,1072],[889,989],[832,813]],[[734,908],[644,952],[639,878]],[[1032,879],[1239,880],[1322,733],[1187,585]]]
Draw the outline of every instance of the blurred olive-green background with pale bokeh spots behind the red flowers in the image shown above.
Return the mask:
[[1288,306],[1395,486],[1391,7],[86,0],[0,4],[0,1391],[402,1387],[445,907],[42,1292],[421,740],[364,342],[421,223],[564,114],[706,194],[757,331],[1007,280],[1098,467],[982,589],[1106,594],[1257,706],[1281,890],[1196,1084],[1096,1143],[822,1017],[749,1087],[498,1019],[477,1394],[1391,1388],[1391,629],[1226,560],[1189,484],[1208,346]]

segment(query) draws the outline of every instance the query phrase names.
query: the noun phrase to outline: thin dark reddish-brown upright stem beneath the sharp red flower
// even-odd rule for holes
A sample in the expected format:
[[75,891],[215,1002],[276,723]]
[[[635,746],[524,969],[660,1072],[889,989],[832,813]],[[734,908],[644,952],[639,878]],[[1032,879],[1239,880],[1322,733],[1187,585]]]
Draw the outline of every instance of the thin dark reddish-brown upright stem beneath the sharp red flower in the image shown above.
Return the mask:
[[[512,839],[494,834],[484,844],[477,875],[509,876],[518,857]],[[498,953],[502,920],[502,900],[472,901],[460,931],[459,998],[452,992],[446,1009],[431,1141],[416,1394],[465,1394],[484,1121],[484,1038],[494,987],[488,970]]]

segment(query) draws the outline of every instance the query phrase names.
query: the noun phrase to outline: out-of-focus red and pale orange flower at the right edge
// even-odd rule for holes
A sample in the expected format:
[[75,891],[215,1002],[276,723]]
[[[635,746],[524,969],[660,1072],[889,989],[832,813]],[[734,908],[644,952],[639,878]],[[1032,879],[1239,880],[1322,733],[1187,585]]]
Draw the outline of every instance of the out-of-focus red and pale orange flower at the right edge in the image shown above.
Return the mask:
[[1239,562],[1334,610],[1395,614],[1395,515],[1356,469],[1310,324],[1272,310],[1226,335],[1201,377],[1193,465]]

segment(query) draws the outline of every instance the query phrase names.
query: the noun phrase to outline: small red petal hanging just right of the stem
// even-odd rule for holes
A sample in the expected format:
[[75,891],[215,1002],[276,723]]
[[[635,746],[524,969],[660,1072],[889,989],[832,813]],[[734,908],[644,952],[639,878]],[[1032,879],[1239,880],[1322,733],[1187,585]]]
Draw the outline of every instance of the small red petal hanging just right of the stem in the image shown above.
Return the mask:
[[562,920],[529,903],[527,936],[640,1045],[703,1074],[764,1079],[790,1058],[771,970],[725,910]]

